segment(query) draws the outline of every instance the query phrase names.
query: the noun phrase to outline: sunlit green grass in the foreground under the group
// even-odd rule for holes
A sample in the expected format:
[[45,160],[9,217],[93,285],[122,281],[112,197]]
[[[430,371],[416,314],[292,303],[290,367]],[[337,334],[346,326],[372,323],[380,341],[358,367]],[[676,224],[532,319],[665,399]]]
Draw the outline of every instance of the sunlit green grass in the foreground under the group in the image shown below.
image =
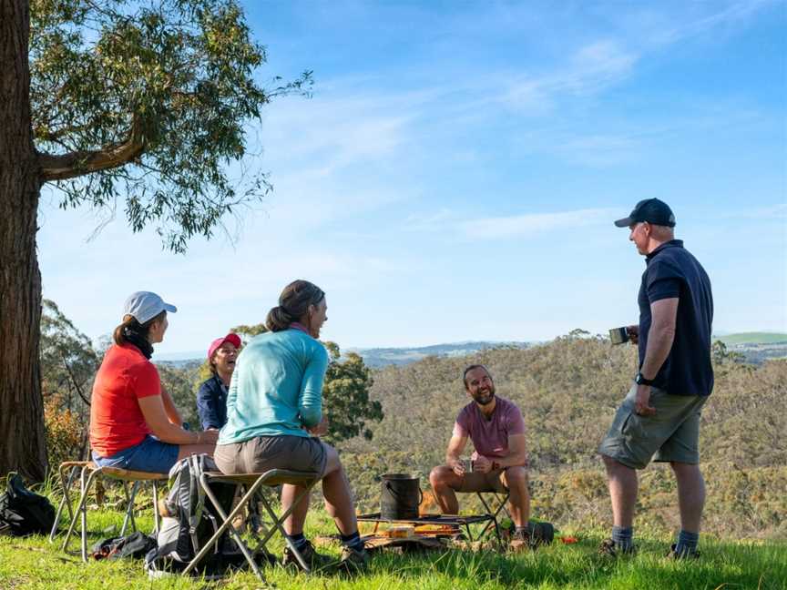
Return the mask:
[[[107,529],[121,515],[93,511],[88,524],[92,530]],[[149,529],[151,519],[139,517],[138,524]],[[564,527],[567,528],[567,527]],[[330,534],[332,524],[322,510],[312,511],[306,533]],[[639,554],[610,560],[597,554],[605,532],[570,531],[577,544],[556,543],[527,554],[473,553],[451,550],[429,554],[376,554],[368,572],[354,578],[339,575],[305,576],[280,567],[264,570],[266,578],[279,588],[418,588],[445,590],[492,590],[497,588],[787,588],[787,543],[751,543],[714,539],[703,535],[702,556],[696,562],[669,561],[663,557],[668,538],[639,537]],[[94,537],[92,540],[96,540]],[[62,543],[62,537],[60,537]],[[75,537],[78,548],[78,539]],[[46,537],[26,539],[0,537],[0,588],[257,588],[259,581],[248,573],[235,573],[220,583],[175,577],[149,581],[139,561],[91,562],[84,565],[78,556],[60,552],[58,544]],[[281,552],[281,542],[273,547]],[[321,549],[338,554],[338,546]]]

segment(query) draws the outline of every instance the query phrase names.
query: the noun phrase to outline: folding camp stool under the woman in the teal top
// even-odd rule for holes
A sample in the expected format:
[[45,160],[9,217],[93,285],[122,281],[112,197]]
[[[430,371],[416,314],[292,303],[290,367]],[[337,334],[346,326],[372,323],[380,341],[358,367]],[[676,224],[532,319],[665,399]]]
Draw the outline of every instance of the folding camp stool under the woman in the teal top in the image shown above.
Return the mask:
[[[290,547],[292,554],[295,555],[295,558],[298,560],[298,563],[301,564],[303,570],[305,572],[309,572],[309,564],[306,563],[306,560],[303,559],[303,555],[298,550],[298,548],[291,543],[289,537],[284,532],[284,527],[281,525],[288,516],[290,516],[292,510],[301,503],[312,490],[312,487],[315,483],[320,481],[320,474],[313,473],[313,472],[293,472],[286,469],[271,469],[265,473],[243,473],[240,475],[224,475],[223,473],[202,473],[199,477],[199,485],[202,487],[202,490],[205,492],[205,495],[210,498],[210,503],[213,504],[213,508],[216,514],[220,517],[220,526],[210,537],[207,543],[205,543],[202,547],[199,548],[199,553],[194,556],[189,562],[189,565],[186,566],[186,569],[183,570],[183,574],[189,574],[191,570],[193,570],[199,562],[207,555],[213,545],[218,543],[222,534],[225,531],[229,530],[232,539],[240,548],[240,552],[243,554],[243,557],[246,559],[247,563],[249,564],[251,570],[260,578],[261,582],[265,582],[265,578],[263,577],[260,568],[254,562],[254,557],[252,552],[250,552],[249,547],[243,542],[243,539],[240,538],[240,534],[232,527],[232,520],[235,518],[237,514],[244,509],[244,507],[249,504],[252,498],[256,498],[260,504],[265,507],[266,512],[271,516],[272,526],[268,529],[268,532],[261,538],[260,543],[258,544],[257,548],[254,550],[253,553],[258,553],[265,550],[265,544],[271,539],[273,534],[277,531],[281,533],[284,541]],[[240,498],[238,504],[232,509],[230,514],[226,514],[221,507],[219,500],[217,499],[215,493],[210,489],[210,483],[232,483],[236,486],[243,485],[246,488],[246,493]],[[281,483],[295,483],[302,485],[305,490],[295,498],[295,501],[292,503],[290,508],[284,511],[281,516],[277,516],[275,512],[273,512],[273,508],[271,507],[271,503],[262,493],[257,493],[260,490],[261,486],[268,486],[273,487],[276,485],[281,485]]]

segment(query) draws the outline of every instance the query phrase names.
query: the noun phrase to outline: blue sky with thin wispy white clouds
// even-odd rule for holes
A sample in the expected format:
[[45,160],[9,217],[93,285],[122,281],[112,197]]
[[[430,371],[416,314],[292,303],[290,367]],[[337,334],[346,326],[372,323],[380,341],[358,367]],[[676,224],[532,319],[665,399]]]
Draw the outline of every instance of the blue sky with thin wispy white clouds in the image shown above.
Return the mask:
[[717,331],[787,331],[784,1],[246,6],[261,80],[316,80],[249,125],[275,190],[183,256],[45,189],[44,294],[89,336],[155,290],[179,306],[158,354],[200,351],[295,278],[342,348],[602,332],[637,319],[612,220],[650,197]]

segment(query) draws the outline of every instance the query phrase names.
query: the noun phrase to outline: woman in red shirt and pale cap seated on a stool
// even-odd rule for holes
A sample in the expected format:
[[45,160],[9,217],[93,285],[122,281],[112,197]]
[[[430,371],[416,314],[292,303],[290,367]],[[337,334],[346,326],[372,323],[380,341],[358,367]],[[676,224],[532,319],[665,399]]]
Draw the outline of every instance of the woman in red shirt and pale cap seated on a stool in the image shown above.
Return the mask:
[[218,431],[189,432],[161,387],[150,362],[153,344],[164,340],[174,305],[156,293],[137,291],[126,300],[123,323],[93,383],[90,406],[90,446],[93,461],[104,467],[169,473],[190,454],[209,453]]

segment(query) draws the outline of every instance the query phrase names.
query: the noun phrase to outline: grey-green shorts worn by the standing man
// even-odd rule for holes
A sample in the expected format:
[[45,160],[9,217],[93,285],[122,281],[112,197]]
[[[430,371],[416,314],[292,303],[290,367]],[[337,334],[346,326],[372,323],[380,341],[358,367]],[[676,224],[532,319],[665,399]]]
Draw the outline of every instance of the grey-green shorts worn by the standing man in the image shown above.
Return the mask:
[[700,463],[700,411],[708,397],[670,395],[653,387],[650,405],[656,413],[640,416],[634,411],[636,393],[634,385],[618,408],[598,453],[632,469],[643,469],[651,460]]

